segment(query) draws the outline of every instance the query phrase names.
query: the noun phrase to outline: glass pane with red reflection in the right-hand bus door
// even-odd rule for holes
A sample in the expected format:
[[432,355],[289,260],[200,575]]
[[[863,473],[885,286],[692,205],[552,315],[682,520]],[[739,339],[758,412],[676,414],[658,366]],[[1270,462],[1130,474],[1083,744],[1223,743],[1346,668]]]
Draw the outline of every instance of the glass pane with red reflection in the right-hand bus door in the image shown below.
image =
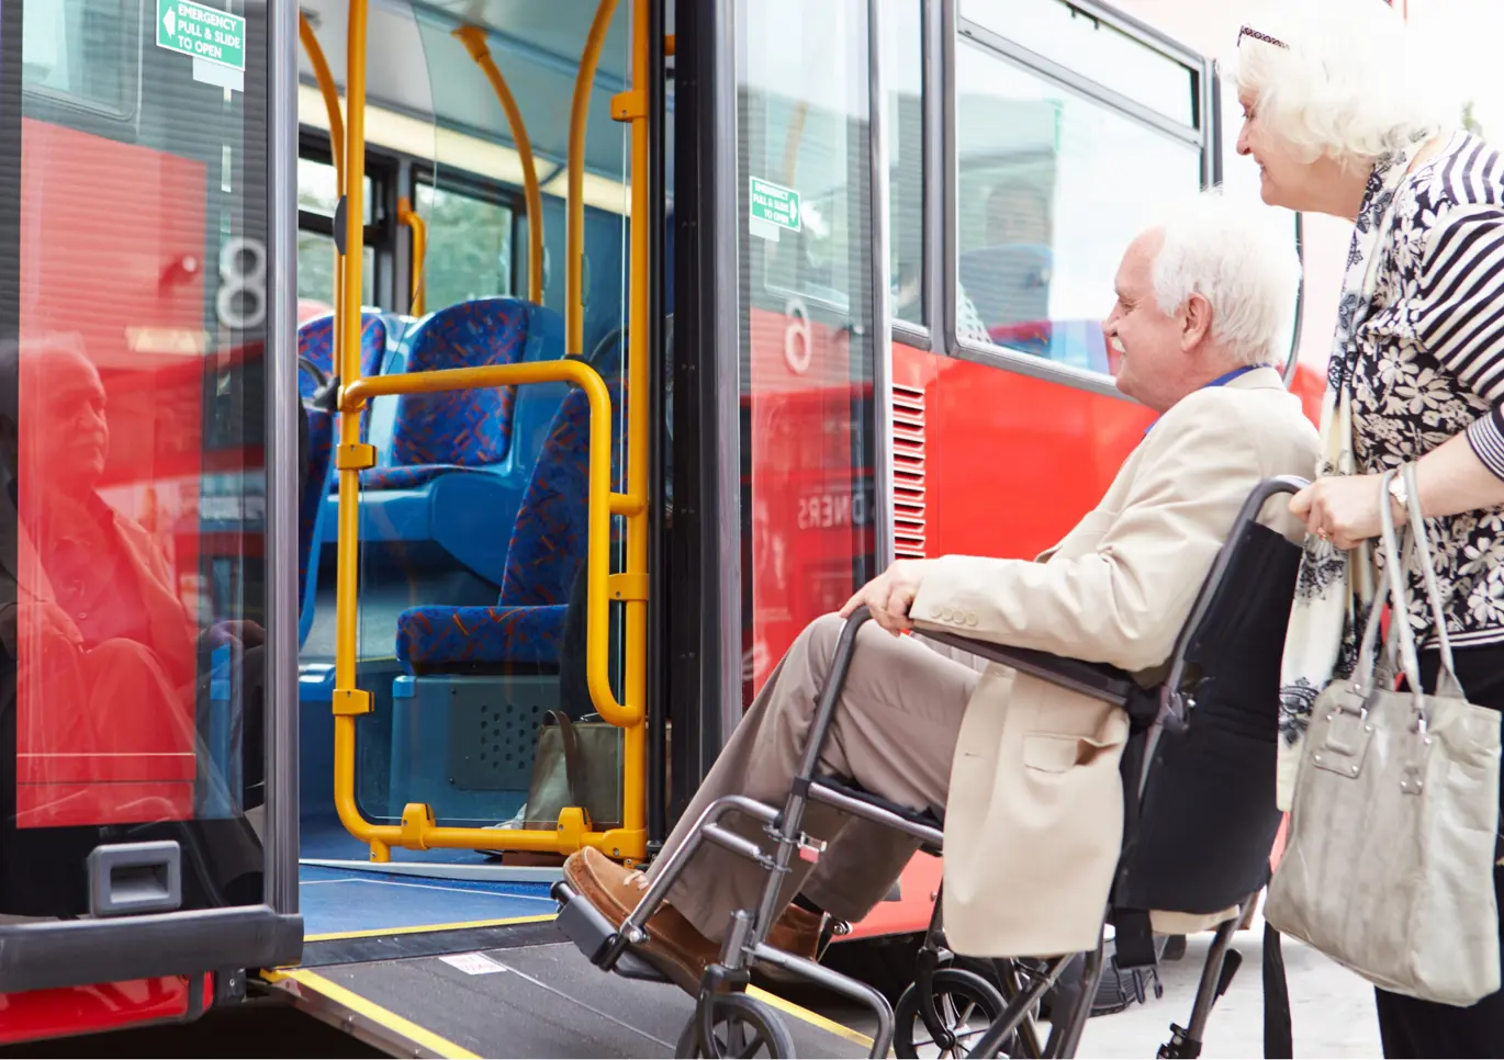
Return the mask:
[[[743,678],[767,680],[794,636],[874,564],[872,188],[866,5],[743,0]],[[761,215],[760,215],[761,214]]]

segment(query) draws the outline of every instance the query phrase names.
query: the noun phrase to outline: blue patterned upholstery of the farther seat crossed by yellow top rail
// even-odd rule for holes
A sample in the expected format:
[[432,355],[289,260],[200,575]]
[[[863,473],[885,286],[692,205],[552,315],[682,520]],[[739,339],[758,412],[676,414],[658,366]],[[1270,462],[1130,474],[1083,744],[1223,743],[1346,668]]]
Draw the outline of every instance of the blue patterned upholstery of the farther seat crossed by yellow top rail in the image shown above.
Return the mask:
[[[408,371],[475,368],[522,361],[537,307],[483,298],[439,310],[412,334]],[[397,400],[390,466],[362,481],[373,489],[420,486],[454,468],[501,463],[511,447],[516,386],[405,394]]]

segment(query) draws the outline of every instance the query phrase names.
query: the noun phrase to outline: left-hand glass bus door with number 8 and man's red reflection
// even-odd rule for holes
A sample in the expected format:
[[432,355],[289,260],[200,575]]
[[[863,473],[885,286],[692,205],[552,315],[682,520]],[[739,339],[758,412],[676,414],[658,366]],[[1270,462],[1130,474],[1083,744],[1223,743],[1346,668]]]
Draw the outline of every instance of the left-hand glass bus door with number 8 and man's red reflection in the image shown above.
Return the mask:
[[283,11],[0,5],[0,1040],[301,952]]

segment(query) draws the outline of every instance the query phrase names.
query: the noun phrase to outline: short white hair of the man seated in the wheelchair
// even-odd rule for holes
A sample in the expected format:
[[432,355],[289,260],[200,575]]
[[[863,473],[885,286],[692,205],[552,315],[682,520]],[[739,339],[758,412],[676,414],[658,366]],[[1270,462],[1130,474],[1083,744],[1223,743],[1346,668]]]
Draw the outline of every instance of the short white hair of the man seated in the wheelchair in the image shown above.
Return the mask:
[[1160,308],[1173,314],[1200,295],[1212,338],[1238,364],[1283,365],[1301,281],[1289,214],[1214,189],[1178,209],[1163,233],[1151,274]]

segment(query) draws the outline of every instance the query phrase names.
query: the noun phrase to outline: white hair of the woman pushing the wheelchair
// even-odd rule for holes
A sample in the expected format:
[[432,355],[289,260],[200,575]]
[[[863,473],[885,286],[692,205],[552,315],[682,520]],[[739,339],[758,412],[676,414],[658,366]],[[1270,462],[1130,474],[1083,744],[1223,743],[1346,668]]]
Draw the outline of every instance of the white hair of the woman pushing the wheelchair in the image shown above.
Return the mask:
[[[1385,0],[1281,0],[1238,39],[1238,90],[1305,162],[1372,165],[1447,119],[1444,83]],[[1283,47],[1281,47],[1283,45]]]

